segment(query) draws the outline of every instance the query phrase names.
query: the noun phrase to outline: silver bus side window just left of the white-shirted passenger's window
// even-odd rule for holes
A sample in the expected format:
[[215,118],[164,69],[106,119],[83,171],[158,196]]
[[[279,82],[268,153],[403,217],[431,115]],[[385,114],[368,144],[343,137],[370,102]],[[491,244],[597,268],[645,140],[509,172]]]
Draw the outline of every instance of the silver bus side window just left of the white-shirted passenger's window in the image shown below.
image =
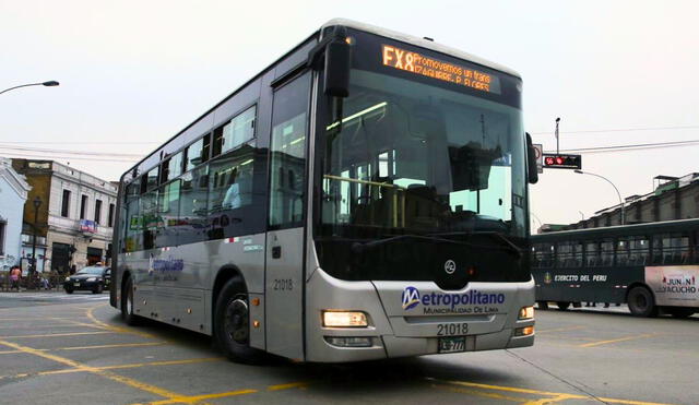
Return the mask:
[[208,213],[206,189],[209,187],[209,165],[199,166],[181,177],[179,194],[178,245],[187,245],[206,239]]

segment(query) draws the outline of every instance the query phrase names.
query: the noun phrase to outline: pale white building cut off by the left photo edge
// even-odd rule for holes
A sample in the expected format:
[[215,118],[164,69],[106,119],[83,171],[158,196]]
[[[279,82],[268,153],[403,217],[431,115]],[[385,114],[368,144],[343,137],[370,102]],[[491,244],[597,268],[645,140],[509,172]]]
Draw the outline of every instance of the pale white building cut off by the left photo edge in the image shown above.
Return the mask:
[[29,190],[12,162],[0,157],[0,272],[20,264],[24,203]]

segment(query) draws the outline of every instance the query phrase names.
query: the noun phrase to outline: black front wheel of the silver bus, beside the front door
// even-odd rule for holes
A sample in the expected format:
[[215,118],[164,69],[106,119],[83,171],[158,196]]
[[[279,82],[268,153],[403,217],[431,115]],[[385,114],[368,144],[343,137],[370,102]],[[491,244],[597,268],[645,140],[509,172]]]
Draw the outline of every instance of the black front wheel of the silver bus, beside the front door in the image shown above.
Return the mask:
[[226,282],[218,293],[214,336],[224,355],[233,361],[258,364],[264,358],[263,352],[250,347],[248,295],[238,277]]

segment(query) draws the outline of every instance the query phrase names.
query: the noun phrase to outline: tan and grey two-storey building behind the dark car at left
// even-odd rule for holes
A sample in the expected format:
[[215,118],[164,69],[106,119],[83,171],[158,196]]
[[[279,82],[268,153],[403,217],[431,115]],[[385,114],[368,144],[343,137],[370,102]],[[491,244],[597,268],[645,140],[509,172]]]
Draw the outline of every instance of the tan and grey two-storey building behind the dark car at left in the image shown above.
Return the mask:
[[[37,249],[37,270],[63,274],[95,263],[109,264],[117,187],[57,162],[12,160],[33,187],[24,211],[23,257],[31,257],[34,249],[29,224],[36,223],[37,246],[45,241],[45,262]],[[38,207],[36,196],[42,201]]]

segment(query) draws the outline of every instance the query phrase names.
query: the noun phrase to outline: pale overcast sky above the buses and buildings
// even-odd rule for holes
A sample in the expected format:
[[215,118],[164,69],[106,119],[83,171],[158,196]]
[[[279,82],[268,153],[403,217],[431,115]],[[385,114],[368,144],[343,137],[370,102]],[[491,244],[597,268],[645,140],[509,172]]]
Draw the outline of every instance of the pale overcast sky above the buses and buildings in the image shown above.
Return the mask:
[[[698,15],[697,1],[0,0],[0,90],[61,82],[0,95],[0,154],[105,153],[52,155],[117,179],[336,16],[517,70],[526,129],[545,150],[556,117],[561,150],[699,140]],[[699,171],[699,143],[584,154],[583,169],[644,194],[656,175]],[[569,170],[547,170],[531,190],[535,226],[618,202],[605,181]]]

